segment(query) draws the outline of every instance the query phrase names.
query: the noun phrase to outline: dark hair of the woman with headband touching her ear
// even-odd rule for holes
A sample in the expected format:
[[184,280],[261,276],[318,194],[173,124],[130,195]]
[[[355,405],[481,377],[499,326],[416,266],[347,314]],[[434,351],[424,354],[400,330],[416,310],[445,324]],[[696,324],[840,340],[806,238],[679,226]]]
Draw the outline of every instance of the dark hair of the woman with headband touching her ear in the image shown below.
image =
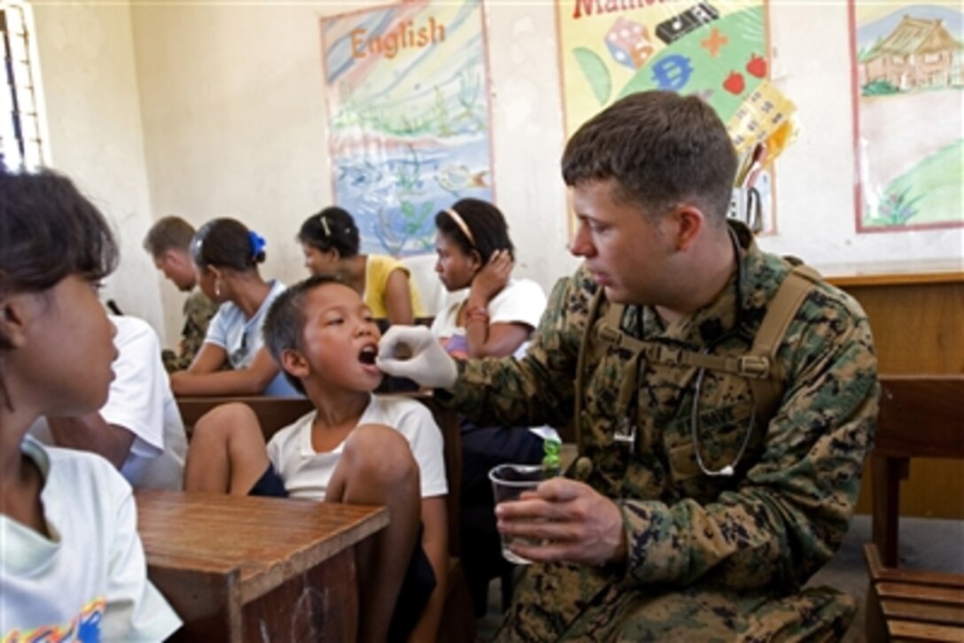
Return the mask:
[[[462,221],[458,221],[449,210],[454,211]],[[469,228],[468,235],[460,223],[464,223]],[[489,201],[478,199],[457,201],[448,210],[442,210],[435,215],[435,227],[454,241],[466,255],[473,250],[476,251],[482,257],[483,263],[488,263],[497,250],[507,250],[509,255],[515,255],[505,217]]]

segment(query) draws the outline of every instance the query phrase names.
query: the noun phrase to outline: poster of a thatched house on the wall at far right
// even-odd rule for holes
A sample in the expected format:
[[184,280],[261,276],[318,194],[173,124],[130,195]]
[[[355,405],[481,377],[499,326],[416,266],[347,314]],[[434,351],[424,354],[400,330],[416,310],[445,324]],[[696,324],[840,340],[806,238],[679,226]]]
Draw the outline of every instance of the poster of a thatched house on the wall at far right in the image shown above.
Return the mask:
[[964,226],[959,0],[850,0],[858,232]]

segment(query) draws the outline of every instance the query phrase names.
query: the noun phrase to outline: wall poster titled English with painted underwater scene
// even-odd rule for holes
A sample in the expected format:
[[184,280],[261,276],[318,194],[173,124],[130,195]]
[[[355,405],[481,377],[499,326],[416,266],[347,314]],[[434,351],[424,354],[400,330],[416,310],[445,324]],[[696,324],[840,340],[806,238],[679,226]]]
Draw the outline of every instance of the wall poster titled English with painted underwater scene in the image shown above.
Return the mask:
[[434,247],[435,213],[493,200],[481,2],[404,2],[321,19],[335,201],[362,252]]

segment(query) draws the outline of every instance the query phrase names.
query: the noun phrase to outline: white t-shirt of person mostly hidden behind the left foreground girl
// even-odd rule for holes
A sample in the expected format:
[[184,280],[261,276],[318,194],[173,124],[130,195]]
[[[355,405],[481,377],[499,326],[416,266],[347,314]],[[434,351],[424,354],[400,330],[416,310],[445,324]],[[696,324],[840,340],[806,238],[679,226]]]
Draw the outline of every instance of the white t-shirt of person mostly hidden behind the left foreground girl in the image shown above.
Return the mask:
[[[157,334],[143,319],[108,316],[117,327],[114,345],[118,358],[111,363],[115,377],[107,404],[99,413],[108,424],[117,424],[134,434],[120,473],[138,489],[179,490],[187,439],[161,361]],[[30,434],[44,444],[54,444],[43,417],[30,428]]]

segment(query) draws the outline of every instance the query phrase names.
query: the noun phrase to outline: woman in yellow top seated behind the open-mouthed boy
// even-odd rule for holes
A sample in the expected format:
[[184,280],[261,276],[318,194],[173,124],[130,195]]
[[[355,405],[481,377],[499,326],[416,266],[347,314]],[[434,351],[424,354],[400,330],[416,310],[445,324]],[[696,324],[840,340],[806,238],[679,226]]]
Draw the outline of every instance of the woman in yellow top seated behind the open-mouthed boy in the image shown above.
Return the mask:
[[413,324],[424,316],[408,268],[388,255],[362,255],[359,228],[347,210],[332,206],[312,214],[298,241],[308,272],[337,275],[362,295],[375,319]]

